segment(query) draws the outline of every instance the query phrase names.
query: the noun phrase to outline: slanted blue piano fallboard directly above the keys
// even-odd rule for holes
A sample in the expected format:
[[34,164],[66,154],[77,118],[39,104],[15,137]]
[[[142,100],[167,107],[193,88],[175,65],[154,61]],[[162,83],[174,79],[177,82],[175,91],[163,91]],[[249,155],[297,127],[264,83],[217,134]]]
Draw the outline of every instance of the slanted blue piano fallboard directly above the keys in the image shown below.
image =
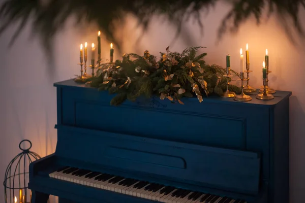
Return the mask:
[[57,125],[56,155],[139,175],[257,194],[260,157],[229,150]]

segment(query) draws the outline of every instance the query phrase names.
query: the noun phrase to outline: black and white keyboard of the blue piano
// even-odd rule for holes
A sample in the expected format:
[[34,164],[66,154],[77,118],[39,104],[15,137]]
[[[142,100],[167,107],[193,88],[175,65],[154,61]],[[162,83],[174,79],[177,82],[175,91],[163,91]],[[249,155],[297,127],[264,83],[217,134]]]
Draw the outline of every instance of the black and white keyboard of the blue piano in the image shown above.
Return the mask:
[[60,168],[59,170],[49,174],[49,176],[51,178],[89,187],[166,203],[246,203],[246,201],[239,199],[204,194],[202,192],[124,178],[111,174],[102,174],[70,166]]

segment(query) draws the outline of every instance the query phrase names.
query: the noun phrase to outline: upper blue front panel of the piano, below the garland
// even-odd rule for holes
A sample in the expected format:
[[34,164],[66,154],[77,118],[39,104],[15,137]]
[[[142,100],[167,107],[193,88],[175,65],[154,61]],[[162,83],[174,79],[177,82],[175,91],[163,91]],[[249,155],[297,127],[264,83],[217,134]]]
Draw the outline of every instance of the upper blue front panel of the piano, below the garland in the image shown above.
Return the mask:
[[224,105],[209,98],[202,103],[186,98],[185,105],[179,105],[157,98],[154,105],[127,101],[112,107],[109,101],[113,95],[108,92],[69,87],[58,91],[62,92],[57,98],[62,115],[58,124],[259,152],[262,176],[265,180],[269,177],[269,109],[265,106]]

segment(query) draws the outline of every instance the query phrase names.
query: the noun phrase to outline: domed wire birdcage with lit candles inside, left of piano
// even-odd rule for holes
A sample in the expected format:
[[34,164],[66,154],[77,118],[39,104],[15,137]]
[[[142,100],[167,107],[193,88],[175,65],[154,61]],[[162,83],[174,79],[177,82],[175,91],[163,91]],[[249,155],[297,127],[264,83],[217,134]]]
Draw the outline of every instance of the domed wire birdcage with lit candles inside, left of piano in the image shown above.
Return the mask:
[[[28,142],[28,148],[22,148],[21,144]],[[19,149],[22,151],[15,156],[9,163],[5,172],[4,178],[4,194],[5,203],[27,203],[31,202],[32,193],[28,189],[28,166],[31,162],[40,159],[41,157],[29,149],[32,148],[32,143],[29,140],[22,140],[19,143]]]

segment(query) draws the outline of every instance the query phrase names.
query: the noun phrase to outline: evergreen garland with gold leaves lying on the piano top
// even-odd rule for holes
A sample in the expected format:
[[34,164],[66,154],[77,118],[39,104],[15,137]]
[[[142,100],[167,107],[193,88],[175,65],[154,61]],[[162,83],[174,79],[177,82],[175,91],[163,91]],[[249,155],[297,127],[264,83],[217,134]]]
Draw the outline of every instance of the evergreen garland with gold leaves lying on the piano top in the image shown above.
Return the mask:
[[[123,60],[104,63],[98,67],[98,77],[87,79],[87,83],[99,90],[116,93],[110,104],[117,106],[126,99],[135,101],[139,96],[158,95],[160,99],[169,99],[184,104],[182,97],[196,96],[201,102],[209,94],[222,95],[226,90],[226,69],[219,65],[208,65],[203,60],[206,53],[196,55],[203,47],[187,48],[182,53],[162,53],[159,60],[148,51],[143,56],[124,54]],[[133,60],[132,60],[133,59]],[[237,77],[239,75],[231,71]],[[235,93],[240,88],[229,85]]]

